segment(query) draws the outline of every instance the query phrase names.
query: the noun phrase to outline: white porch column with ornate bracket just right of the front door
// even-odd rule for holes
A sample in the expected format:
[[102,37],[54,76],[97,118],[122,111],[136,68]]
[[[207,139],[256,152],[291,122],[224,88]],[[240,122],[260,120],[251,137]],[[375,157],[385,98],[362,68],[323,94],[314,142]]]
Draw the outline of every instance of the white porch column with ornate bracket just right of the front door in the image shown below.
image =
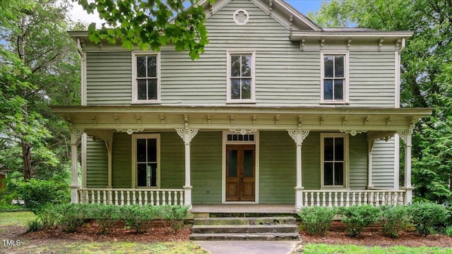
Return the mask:
[[302,186],[302,144],[303,140],[309,135],[309,130],[301,130],[298,128],[295,131],[287,130],[290,137],[297,145],[297,186],[295,186],[295,210],[299,211],[303,207],[303,190]]

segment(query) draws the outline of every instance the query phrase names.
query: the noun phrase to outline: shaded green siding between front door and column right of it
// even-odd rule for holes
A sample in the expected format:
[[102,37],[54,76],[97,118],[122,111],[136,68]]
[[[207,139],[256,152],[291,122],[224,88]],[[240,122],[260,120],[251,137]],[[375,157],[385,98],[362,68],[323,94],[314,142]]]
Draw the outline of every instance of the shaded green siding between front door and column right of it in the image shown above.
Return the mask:
[[286,131],[259,133],[259,203],[294,203],[296,150]]

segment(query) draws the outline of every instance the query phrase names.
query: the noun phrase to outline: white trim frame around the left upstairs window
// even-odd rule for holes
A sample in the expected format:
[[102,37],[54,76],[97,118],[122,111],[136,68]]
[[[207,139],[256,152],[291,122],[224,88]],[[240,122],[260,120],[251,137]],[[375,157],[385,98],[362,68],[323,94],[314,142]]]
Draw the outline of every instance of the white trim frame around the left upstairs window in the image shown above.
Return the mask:
[[[138,85],[136,82],[136,56],[157,56],[157,99],[138,99]],[[132,52],[132,103],[152,104],[161,102],[160,92],[160,53],[159,52]]]

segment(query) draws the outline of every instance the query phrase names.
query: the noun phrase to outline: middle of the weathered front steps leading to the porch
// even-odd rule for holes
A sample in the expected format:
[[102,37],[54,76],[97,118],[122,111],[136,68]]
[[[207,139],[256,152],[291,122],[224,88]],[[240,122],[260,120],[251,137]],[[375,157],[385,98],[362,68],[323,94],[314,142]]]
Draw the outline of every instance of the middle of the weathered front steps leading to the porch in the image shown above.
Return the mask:
[[191,232],[196,234],[255,234],[255,233],[297,233],[295,224],[271,225],[194,225]]

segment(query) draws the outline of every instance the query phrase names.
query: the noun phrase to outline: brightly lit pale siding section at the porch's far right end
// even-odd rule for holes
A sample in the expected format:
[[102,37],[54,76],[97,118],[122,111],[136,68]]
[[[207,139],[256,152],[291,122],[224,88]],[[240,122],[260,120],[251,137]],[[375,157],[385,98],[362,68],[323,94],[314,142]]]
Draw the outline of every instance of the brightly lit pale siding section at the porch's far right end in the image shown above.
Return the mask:
[[394,138],[375,140],[372,148],[372,185],[376,188],[394,186]]

